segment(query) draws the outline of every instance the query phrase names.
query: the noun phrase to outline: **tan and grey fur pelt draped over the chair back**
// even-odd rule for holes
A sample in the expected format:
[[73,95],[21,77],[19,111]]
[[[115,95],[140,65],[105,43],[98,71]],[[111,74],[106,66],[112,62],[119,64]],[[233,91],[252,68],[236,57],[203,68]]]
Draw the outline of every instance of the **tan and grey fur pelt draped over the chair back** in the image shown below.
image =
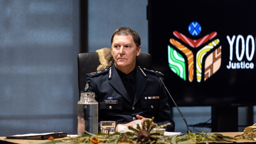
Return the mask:
[[112,64],[114,63],[113,56],[111,55],[111,48],[102,48],[99,50],[96,50],[96,52],[99,55],[99,62],[100,65],[97,67],[97,71],[102,69],[109,69]]

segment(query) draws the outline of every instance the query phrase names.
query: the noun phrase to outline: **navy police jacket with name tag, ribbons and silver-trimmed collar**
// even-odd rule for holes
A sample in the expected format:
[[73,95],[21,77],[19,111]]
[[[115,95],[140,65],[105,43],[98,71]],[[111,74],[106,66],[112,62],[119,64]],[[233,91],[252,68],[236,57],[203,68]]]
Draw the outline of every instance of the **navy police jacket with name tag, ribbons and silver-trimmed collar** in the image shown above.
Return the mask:
[[[86,74],[85,92],[95,93],[95,99],[99,102],[99,121],[126,124],[136,120],[136,115],[141,115],[145,118],[154,117],[157,125],[170,123],[165,128],[173,132],[175,123],[163,84],[156,72],[138,66],[136,68],[136,94],[133,101],[114,65],[110,69]],[[100,131],[100,126],[98,129]]]

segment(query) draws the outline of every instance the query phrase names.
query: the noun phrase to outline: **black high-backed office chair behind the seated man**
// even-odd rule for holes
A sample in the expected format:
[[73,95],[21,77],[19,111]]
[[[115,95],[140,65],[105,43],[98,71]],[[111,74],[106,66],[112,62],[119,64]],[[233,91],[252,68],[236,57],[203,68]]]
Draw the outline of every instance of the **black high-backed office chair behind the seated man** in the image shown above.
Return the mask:
[[[148,53],[140,53],[137,57],[136,64],[142,68],[151,69],[151,55]],[[86,74],[97,71],[100,65],[98,53],[79,53],[78,54],[78,88],[79,96],[84,92]]]

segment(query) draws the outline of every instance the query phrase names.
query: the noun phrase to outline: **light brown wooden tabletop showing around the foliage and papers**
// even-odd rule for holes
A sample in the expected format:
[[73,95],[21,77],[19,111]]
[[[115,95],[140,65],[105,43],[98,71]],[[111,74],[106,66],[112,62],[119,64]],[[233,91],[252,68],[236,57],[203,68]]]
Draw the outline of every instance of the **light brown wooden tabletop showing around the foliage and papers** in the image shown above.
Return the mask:
[[[214,133],[214,132],[213,132]],[[219,134],[223,134],[225,136],[235,136],[237,134],[242,134],[243,132],[218,132]],[[67,139],[67,137],[64,138],[58,138],[58,139]],[[54,140],[58,140],[58,139],[54,139]],[[18,140],[18,139],[6,139],[6,137],[0,137],[0,144],[29,144],[28,142],[40,142],[42,140]],[[209,142],[212,143],[212,142]],[[245,139],[239,139],[239,140],[229,140],[229,141],[221,141],[221,142],[215,142],[218,144],[221,143],[241,143],[241,144],[256,144],[255,140],[245,140]],[[121,144],[121,143],[120,143]],[[127,144],[127,143],[122,143],[122,144]],[[193,144],[193,143],[186,143],[186,144]]]

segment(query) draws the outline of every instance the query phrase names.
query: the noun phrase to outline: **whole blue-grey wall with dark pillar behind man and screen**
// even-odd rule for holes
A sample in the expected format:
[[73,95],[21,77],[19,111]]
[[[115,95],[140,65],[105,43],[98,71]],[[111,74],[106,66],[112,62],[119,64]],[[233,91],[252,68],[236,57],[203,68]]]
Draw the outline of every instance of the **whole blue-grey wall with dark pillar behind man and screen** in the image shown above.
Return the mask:
[[[76,134],[78,53],[110,47],[111,35],[121,26],[137,31],[142,53],[148,53],[147,4],[147,0],[0,0],[0,136]],[[211,118],[211,107],[180,110],[188,124]],[[244,117],[240,115],[242,122]],[[173,118],[175,131],[186,132],[176,108]]]

